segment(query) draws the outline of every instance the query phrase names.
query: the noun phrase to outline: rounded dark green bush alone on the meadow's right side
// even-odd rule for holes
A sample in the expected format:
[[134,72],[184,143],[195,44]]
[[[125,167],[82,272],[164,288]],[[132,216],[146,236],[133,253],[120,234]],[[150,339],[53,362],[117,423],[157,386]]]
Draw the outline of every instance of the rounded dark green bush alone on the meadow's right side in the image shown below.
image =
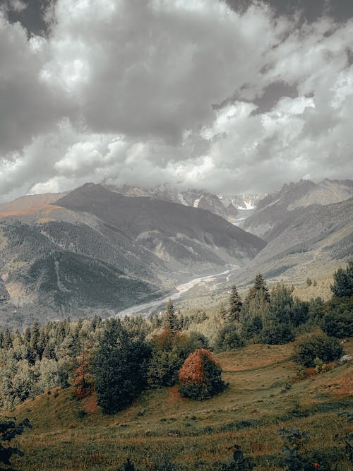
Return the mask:
[[318,357],[324,363],[332,362],[342,356],[343,348],[334,338],[327,335],[309,335],[294,348],[294,362],[307,367],[315,366]]

